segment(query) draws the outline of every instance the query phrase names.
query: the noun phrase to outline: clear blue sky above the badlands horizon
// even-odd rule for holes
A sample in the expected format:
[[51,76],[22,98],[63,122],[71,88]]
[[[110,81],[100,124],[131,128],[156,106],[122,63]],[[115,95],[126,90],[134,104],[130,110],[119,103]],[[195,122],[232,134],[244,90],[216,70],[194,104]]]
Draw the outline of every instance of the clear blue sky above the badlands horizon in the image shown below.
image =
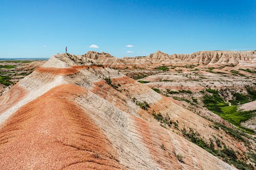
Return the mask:
[[256,50],[255,0],[0,0],[0,23],[0,58]]

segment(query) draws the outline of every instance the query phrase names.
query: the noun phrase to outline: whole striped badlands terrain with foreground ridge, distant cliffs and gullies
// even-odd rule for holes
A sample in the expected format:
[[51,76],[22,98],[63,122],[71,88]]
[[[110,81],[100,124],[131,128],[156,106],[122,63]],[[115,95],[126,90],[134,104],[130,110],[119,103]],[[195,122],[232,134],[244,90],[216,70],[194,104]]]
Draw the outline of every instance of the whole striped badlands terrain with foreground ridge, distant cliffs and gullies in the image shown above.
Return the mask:
[[54,55],[0,96],[0,166],[254,169],[255,71],[255,52]]

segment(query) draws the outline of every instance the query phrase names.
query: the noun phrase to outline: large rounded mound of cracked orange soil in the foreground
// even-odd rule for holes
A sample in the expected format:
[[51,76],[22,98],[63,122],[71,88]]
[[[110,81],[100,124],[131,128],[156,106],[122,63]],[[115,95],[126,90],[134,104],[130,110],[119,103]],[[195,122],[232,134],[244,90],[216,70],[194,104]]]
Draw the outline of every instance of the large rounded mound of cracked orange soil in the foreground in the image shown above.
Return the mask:
[[122,169],[110,141],[59,85],[15,112],[0,129],[1,169]]

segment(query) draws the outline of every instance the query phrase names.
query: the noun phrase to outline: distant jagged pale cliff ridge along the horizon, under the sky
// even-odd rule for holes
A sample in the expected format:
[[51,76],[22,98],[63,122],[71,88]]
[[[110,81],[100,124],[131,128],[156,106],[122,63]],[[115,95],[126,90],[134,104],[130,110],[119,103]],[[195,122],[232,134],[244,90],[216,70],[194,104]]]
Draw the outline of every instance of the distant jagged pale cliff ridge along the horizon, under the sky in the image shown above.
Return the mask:
[[[217,65],[230,66],[256,66],[256,51],[234,52],[234,51],[205,51],[193,54],[172,54],[157,51],[147,57],[124,57],[116,59],[110,57],[109,54],[88,52],[88,58],[96,59],[99,63],[113,67],[121,67],[124,65],[132,68],[144,67],[145,65],[209,65],[215,67]],[[95,56],[95,57],[92,57]],[[98,57],[100,56],[100,57]]]

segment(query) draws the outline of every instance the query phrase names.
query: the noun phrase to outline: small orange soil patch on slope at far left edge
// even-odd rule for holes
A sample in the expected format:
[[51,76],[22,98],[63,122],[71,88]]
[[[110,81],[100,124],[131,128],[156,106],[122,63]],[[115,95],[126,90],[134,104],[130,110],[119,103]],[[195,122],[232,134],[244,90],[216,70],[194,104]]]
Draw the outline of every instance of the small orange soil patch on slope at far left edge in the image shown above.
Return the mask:
[[0,114],[21,101],[26,94],[27,91],[24,88],[20,87],[18,83],[15,84],[10,90],[0,96]]

